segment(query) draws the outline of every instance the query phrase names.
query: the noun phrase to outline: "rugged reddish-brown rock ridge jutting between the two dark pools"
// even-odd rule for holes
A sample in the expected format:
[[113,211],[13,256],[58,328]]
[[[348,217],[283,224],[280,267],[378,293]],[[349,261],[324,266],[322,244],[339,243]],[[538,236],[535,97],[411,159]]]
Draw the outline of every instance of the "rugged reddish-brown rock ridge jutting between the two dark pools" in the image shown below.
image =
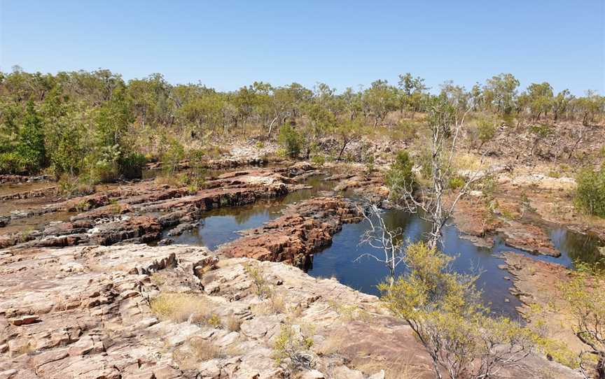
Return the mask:
[[305,267],[312,254],[328,245],[342,224],[361,221],[355,203],[342,198],[318,197],[290,206],[284,215],[244,237],[223,246],[228,257],[250,257],[261,261],[286,262]]

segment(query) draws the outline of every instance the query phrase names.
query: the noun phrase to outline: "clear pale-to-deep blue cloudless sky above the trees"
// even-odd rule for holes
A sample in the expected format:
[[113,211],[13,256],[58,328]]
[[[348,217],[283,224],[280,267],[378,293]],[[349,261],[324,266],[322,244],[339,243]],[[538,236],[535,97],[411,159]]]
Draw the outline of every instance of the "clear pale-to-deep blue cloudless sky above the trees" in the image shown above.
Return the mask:
[[470,88],[497,73],[605,93],[605,0],[0,0],[0,69],[110,69],[235,90],[343,90],[411,72]]

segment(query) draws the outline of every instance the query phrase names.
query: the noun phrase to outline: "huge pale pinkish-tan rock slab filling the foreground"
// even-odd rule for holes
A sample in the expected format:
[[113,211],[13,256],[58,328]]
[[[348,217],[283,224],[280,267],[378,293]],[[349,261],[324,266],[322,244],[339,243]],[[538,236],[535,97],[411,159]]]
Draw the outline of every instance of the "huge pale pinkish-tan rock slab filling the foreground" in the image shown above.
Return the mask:
[[[0,373],[11,379],[287,378],[289,358],[274,359],[284,330],[312,341],[297,352],[308,359],[301,378],[433,378],[409,327],[375,296],[184,245],[4,250],[0,329]],[[548,371],[576,378],[539,356],[500,374]]]

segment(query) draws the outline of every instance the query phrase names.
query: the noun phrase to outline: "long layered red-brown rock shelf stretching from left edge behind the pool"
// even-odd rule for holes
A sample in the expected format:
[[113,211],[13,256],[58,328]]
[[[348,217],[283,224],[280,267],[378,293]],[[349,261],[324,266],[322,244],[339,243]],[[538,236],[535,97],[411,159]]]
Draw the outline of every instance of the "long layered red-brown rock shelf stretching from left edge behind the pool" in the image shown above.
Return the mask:
[[[242,206],[258,199],[284,196],[299,190],[300,180],[318,171],[305,162],[289,167],[233,171],[209,178],[202,190],[174,188],[153,182],[109,187],[88,196],[51,203],[2,219],[69,214],[70,220],[47,223],[41,231],[0,236],[0,247],[63,247],[81,244],[111,245],[124,241],[158,240],[163,229],[179,234],[195,224],[202,213],[225,206]],[[73,215],[73,213],[77,213]],[[174,229],[179,224],[186,224]]]

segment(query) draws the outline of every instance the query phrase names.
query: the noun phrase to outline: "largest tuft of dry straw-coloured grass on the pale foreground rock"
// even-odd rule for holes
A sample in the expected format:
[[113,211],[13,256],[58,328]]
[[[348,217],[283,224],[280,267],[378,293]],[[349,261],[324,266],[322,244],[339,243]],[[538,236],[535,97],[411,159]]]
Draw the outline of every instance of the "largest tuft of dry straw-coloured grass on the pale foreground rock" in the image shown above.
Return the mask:
[[168,292],[151,300],[151,310],[160,320],[204,322],[211,311],[211,303],[202,296]]

